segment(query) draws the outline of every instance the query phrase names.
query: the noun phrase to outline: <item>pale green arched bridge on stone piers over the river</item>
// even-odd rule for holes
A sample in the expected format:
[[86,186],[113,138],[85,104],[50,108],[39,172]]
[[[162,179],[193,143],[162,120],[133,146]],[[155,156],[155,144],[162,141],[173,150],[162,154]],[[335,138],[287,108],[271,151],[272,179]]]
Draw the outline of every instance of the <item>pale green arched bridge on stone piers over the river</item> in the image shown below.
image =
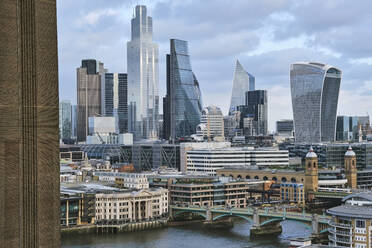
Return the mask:
[[328,231],[331,217],[327,215],[310,214],[306,212],[289,212],[286,209],[274,208],[224,208],[199,206],[171,206],[170,216],[192,213],[204,217],[207,223],[227,217],[240,217],[252,223],[251,235],[281,232],[280,222],[292,220],[301,222],[312,230],[312,235],[320,235]]

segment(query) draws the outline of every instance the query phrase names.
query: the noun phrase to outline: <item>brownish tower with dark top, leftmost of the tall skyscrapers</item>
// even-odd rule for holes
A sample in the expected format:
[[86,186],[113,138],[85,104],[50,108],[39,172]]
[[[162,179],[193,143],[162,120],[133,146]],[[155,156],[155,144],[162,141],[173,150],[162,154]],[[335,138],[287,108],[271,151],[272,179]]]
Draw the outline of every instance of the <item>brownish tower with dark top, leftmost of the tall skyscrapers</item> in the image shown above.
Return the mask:
[[103,64],[94,59],[83,60],[81,67],[77,68],[77,142],[84,142],[88,136],[89,117],[101,115],[101,78],[104,72]]

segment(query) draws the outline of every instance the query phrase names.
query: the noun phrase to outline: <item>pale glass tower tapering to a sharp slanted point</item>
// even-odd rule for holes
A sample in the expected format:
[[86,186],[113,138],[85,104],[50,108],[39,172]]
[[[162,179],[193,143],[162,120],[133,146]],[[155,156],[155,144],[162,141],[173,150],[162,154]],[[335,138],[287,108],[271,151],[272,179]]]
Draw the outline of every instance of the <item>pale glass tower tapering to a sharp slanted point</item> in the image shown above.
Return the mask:
[[229,115],[233,114],[238,106],[244,105],[245,92],[255,90],[255,87],[254,76],[246,72],[239,60],[236,60]]

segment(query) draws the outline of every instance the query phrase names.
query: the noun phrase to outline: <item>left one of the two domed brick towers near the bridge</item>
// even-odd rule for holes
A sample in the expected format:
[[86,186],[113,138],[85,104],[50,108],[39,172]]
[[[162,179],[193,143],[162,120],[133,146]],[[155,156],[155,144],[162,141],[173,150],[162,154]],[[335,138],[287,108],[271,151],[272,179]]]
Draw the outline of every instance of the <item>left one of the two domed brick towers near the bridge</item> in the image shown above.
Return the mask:
[[311,200],[313,192],[318,191],[318,156],[310,147],[310,151],[306,154],[306,172],[305,172],[305,191],[307,199]]

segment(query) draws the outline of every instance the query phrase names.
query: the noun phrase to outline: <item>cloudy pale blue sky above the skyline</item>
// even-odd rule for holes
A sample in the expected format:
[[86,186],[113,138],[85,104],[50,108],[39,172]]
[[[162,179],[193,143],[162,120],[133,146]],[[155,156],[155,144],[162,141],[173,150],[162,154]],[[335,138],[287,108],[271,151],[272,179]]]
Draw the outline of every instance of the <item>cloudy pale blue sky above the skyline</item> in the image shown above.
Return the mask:
[[95,58],[126,72],[136,4],[145,4],[159,44],[165,94],[169,39],[189,42],[204,105],[227,113],[236,59],[269,94],[269,129],[292,118],[289,65],[317,61],[343,71],[338,114],[372,107],[372,2],[367,0],[57,0],[60,99],[76,103],[76,68]]

